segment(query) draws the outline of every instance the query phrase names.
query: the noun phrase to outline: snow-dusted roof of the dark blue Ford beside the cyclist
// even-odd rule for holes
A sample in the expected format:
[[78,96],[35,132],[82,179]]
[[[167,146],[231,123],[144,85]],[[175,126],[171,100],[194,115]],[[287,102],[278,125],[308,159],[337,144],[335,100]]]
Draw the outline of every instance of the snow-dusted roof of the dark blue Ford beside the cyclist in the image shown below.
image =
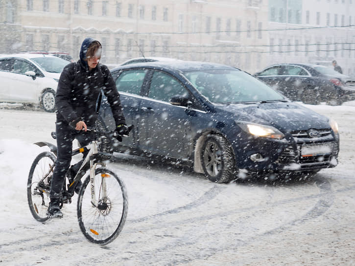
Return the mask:
[[158,68],[162,70],[170,69],[170,70],[178,70],[182,72],[195,71],[195,70],[212,70],[212,69],[237,69],[235,67],[230,67],[222,64],[217,64],[217,63],[174,60],[174,61],[134,63],[125,66],[115,67],[111,71],[117,71],[120,69],[129,69],[129,68],[138,68],[138,67]]

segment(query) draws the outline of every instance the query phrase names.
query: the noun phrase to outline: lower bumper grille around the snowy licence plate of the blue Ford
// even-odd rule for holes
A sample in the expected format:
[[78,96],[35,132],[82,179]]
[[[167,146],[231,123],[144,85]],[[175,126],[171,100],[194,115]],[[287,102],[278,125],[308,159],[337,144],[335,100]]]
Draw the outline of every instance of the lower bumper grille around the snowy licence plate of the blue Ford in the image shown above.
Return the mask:
[[[297,144],[297,150],[293,146],[288,146],[284,149],[282,154],[279,155],[275,163],[282,166],[283,170],[293,169],[293,170],[307,170],[312,167],[326,166],[331,163],[331,159],[338,152],[338,145],[335,141],[331,142],[317,142],[316,144],[329,144],[331,145],[331,153],[324,155],[314,155],[314,156],[301,156],[301,149],[303,144]],[[307,145],[307,144],[306,144]],[[309,144],[308,144],[309,145]],[[295,164],[298,167],[295,167]]]

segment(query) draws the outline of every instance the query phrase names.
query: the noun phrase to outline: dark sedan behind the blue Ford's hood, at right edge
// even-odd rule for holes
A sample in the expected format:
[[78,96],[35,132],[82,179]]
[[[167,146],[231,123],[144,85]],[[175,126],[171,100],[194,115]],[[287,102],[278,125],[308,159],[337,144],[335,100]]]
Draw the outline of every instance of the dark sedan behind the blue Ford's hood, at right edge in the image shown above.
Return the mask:
[[266,67],[254,76],[293,101],[340,105],[355,100],[355,79],[326,66],[278,64]]

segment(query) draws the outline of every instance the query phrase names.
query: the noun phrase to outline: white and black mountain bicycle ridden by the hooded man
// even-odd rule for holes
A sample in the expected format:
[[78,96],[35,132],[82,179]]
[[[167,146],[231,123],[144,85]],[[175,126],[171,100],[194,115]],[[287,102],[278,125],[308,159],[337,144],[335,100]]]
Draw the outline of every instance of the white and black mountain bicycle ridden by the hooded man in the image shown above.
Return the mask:
[[[131,130],[133,126],[129,127]],[[107,141],[115,136],[115,132],[103,132],[88,129],[93,134],[91,143],[72,151],[72,155],[88,152],[83,159],[79,171],[71,183],[64,182],[60,208],[64,203],[71,203],[74,188],[89,170],[84,179],[77,199],[77,218],[84,236],[95,244],[109,244],[121,232],[126,221],[128,198],[124,182],[114,172],[106,168],[105,160],[112,154],[107,153]],[[55,138],[55,133],[52,132]],[[27,182],[27,199],[33,217],[45,222],[49,206],[50,180],[56,161],[57,147],[48,142],[37,142],[36,145],[48,146],[50,152],[43,152],[34,159]]]

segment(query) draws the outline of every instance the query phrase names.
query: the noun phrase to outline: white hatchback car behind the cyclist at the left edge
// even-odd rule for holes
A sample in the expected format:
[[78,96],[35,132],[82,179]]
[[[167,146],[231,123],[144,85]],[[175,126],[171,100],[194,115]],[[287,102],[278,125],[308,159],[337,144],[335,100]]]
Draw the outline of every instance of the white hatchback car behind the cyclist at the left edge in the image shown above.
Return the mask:
[[36,104],[53,112],[58,80],[68,64],[67,60],[44,54],[0,56],[0,102]]

